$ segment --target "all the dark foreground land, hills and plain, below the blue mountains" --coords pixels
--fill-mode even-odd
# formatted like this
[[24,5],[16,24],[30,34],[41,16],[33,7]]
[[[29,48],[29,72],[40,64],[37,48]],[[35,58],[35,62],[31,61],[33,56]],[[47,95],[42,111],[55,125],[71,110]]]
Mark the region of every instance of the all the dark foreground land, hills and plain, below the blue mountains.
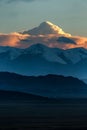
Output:
[[87,84],[73,77],[0,73],[0,130],[61,129],[87,129]]

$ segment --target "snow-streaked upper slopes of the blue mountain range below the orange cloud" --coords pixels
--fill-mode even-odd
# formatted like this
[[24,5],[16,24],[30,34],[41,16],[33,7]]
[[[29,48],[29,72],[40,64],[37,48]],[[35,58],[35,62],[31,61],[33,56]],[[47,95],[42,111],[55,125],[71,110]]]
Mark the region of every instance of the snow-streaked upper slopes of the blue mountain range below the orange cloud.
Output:
[[20,55],[40,55],[50,62],[58,62],[61,64],[76,64],[82,59],[87,58],[87,50],[84,48],[73,48],[62,50],[59,48],[50,48],[43,44],[35,44],[26,49],[18,49],[13,47],[0,47],[1,53],[8,53],[11,60]]

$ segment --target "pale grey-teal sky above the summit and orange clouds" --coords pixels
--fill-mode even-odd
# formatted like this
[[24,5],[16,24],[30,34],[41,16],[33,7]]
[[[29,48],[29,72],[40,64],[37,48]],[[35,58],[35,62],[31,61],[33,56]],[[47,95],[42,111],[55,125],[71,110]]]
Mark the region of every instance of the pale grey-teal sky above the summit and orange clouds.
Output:
[[43,21],[87,36],[87,0],[0,0],[0,33],[31,29]]

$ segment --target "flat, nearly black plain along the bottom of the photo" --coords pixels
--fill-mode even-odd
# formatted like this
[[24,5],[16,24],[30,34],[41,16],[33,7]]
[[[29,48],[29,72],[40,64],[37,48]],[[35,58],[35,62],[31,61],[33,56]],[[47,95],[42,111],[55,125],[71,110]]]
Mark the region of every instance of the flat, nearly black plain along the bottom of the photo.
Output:
[[87,129],[87,99],[3,101],[1,130]]

